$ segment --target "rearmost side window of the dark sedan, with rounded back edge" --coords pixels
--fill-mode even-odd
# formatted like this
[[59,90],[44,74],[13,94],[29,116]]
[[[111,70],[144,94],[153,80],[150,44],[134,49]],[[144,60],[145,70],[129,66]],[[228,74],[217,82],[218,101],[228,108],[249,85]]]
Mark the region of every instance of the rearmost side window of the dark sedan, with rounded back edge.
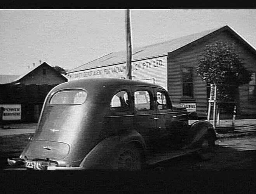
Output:
[[110,103],[110,108],[113,110],[127,110],[130,107],[129,95],[126,91],[117,92],[113,95]]

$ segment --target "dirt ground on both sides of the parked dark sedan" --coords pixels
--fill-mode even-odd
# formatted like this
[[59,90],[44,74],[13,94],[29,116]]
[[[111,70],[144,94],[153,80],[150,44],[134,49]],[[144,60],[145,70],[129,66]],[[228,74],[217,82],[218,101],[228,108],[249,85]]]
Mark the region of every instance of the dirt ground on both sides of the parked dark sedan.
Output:
[[[7,158],[17,158],[33,133],[0,137],[0,166],[7,165]],[[256,169],[256,133],[250,136],[216,140],[214,157],[209,161],[200,161],[195,154],[170,159],[149,169],[157,170],[238,170]]]

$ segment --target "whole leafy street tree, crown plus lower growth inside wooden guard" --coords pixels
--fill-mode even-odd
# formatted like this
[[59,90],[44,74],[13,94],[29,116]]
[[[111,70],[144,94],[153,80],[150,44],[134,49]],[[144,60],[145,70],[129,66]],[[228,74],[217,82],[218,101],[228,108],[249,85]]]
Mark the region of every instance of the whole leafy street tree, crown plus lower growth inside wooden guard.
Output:
[[[215,42],[206,45],[198,62],[197,73],[207,83],[217,85],[218,100],[235,100],[238,86],[249,83],[251,74],[246,70],[234,43]],[[218,103],[219,109],[230,111],[232,104]]]

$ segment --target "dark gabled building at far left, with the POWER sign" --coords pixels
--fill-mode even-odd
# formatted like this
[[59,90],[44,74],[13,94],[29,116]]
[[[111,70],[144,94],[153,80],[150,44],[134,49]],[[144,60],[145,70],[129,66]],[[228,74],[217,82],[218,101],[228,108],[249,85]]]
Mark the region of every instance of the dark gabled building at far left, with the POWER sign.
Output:
[[28,70],[21,76],[0,75],[0,107],[5,108],[5,123],[37,122],[47,93],[68,81],[47,62]]

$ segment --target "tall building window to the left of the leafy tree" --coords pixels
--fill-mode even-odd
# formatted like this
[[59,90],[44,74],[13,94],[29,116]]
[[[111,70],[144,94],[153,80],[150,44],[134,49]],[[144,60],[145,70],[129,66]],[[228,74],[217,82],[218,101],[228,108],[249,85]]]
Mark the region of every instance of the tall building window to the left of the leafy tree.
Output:
[[193,68],[182,67],[183,97],[193,98]]

